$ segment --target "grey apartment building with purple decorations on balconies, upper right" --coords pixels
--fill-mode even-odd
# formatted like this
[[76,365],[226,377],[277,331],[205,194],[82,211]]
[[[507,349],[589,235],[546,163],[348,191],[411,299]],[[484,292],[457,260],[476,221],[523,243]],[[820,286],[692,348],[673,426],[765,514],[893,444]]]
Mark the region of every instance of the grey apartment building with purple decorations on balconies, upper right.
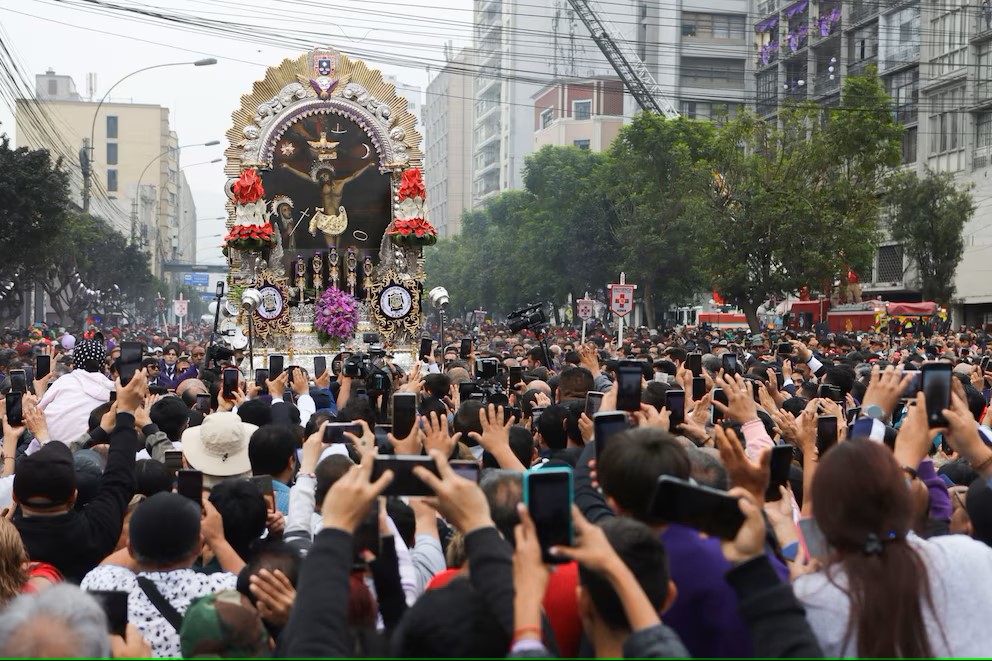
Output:
[[[905,127],[903,168],[929,168],[974,184],[977,210],[966,225],[955,276],[955,323],[992,323],[992,7],[962,0],[760,0],[752,12],[758,114],[786,99],[839,105],[844,76],[875,67]],[[923,38],[923,35],[926,35]],[[866,296],[919,298],[901,246],[883,241]]]

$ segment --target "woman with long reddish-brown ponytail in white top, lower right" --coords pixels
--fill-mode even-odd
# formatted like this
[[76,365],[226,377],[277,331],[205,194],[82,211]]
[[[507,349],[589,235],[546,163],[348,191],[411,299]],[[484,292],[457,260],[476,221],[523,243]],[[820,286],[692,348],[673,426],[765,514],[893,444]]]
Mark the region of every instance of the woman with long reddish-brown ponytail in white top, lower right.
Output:
[[992,549],[963,535],[917,537],[915,479],[867,439],[819,462],[812,496],[831,554],[795,591],[828,657],[992,653]]

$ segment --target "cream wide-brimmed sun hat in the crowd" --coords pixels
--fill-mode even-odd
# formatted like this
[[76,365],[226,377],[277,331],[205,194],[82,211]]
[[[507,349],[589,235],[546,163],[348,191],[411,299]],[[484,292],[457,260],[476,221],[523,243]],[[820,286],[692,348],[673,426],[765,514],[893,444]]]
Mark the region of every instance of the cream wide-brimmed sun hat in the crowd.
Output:
[[248,441],[256,429],[256,425],[242,422],[237,413],[208,415],[202,424],[183,432],[183,456],[191,467],[207,475],[250,473]]

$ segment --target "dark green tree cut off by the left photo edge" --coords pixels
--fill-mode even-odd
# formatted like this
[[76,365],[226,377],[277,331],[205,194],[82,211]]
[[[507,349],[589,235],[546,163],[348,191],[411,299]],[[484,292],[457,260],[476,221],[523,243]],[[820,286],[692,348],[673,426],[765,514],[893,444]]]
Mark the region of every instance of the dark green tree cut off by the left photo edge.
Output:
[[44,149],[11,149],[10,138],[0,135],[0,281],[39,275],[69,206],[61,162]]

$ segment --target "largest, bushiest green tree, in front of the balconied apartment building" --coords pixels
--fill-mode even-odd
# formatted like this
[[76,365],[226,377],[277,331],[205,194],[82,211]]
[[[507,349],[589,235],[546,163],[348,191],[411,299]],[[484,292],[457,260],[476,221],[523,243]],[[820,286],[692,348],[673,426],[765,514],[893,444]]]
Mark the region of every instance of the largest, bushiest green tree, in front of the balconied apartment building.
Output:
[[795,105],[768,121],[742,113],[720,127],[702,264],[752,330],[772,296],[829,289],[870,264],[901,131],[874,72],[848,78],[837,108]]

